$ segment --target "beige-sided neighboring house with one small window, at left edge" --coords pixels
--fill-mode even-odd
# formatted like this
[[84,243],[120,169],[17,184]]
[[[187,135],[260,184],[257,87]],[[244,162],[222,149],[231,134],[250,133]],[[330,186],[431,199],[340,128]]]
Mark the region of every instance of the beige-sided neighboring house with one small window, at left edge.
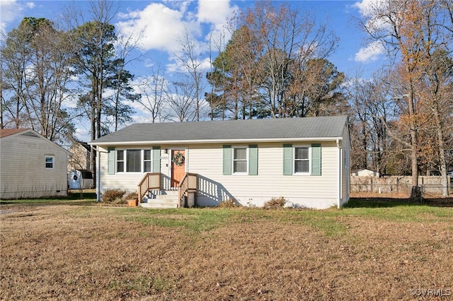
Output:
[[66,196],[69,155],[32,129],[0,129],[1,199]]

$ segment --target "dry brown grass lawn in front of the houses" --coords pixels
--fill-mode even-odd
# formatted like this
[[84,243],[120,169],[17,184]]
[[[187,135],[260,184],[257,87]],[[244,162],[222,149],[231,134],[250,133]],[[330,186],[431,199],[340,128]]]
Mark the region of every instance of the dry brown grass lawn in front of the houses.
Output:
[[[1,206],[0,300],[453,294],[453,209],[408,207],[408,216],[401,208],[375,210]],[[219,223],[201,230],[185,225],[202,215],[218,216]]]

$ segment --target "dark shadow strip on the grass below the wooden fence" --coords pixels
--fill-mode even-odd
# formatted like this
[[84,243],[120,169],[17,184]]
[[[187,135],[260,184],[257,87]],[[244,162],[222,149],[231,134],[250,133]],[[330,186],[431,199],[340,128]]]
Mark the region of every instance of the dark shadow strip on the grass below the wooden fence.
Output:
[[396,198],[350,198],[344,208],[385,208],[396,206],[453,207],[453,198],[432,198],[423,201]]

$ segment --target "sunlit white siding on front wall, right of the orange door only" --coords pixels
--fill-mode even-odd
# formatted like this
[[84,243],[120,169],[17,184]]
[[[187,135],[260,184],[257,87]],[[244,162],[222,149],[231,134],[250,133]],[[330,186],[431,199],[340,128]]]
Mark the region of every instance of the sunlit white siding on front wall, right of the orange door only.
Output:
[[[282,175],[281,143],[258,144],[259,172],[253,177],[223,175],[222,145],[205,149],[206,147],[206,145],[190,146],[188,172],[202,176],[199,180],[200,194],[197,199],[200,206],[214,205],[215,202],[232,197],[243,206],[262,206],[265,201],[279,196],[285,197],[291,203],[304,203],[303,206],[307,207],[326,208],[336,203],[338,148],[335,142],[322,144],[323,175],[320,177]],[[216,199],[217,192],[219,198]]]

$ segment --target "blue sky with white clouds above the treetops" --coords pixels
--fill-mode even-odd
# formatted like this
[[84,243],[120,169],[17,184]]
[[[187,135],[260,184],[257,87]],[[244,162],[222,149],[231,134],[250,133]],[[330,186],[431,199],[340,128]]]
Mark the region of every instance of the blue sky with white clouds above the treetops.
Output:
[[[367,43],[367,36],[357,25],[367,5],[379,0],[356,1],[292,1],[314,13],[316,20],[327,21],[329,28],[340,38],[336,52],[328,59],[347,76],[360,73],[369,77],[384,64],[382,49]],[[175,59],[178,39],[187,28],[200,48],[206,47],[207,36],[226,34],[224,25],[235,10],[253,6],[253,1],[228,0],[164,0],[164,1],[118,1],[119,10],[112,23],[127,33],[137,35],[141,44],[140,58],[128,68],[137,82],[152,73],[156,66],[166,69],[171,76],[179,66]],[[15,1],[0,0],[0,30],[8,33],[24,17],[48,18],[57,21],[67,7],[74,5],[89,16],[88,1]],[[89,18],[89,17],[88,17]],[[138,53],[136,53],[138,54]],[[215,54],[214,54],[215,56]],[[137,108],[138,109],[138,108]],[[147,122],[139,114],[135,122]],[[79,129],[84,136],[87,129]]]

